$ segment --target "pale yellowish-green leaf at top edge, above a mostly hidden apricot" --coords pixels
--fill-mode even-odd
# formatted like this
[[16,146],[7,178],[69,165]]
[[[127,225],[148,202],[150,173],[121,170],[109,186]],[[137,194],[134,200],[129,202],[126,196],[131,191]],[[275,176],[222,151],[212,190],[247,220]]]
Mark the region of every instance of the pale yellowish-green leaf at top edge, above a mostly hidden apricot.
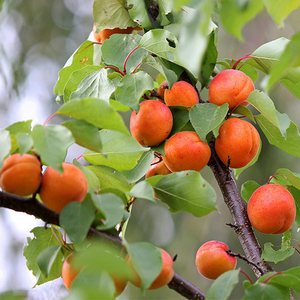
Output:
[[98,31],[106,28],[126,28],[137,25],[131,19],[123,1],[119,0],[95,0],[92,6],[92,14]]

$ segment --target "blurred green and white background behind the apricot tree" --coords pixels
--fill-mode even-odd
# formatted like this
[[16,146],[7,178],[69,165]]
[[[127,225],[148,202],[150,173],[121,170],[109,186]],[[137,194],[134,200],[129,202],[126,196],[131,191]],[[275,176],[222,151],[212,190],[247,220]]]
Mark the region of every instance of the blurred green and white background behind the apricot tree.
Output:
[[[53,87],[58,71],[91,31],[92,2],[93,0],[4,1],[0,12],[0,128],[27,119],[32,119],[32,124],[43,123],[47,116],[57,110]],[[244,27],[244,43],[231,37],[220,27],[218,58],[238,59],[267,41],[280,36],[290,37],[300,30],[299,15],[299,9],[292,12],[284,21],[284,27],[277,28],[267,12],[261,12]],[[260,89],[259,83],[255,87]],[[201,97],[207,99],[205,90],[201,92]],[[281,85],[271,90],[270,97],[277,110],[287,113],[299,127],[300,101]],[[260,130],[259,132],[261,133]],[[300,172],[299,159],[269,145],[262,134],[261,138],[262,151],[259,159],[239,176],[238,187],[250,179],[263,184],[280,167]],[[71,147],[67,160],[71,161],[81,152],[82,149]],[[243,252],[233,229],[225,225],[232,219],[212,172],[205,167],[201,174],[216,189],[219,212],[196,218],[185,212],[170,213],[166,205],[159,201],[154,205],[137,199],[132,208],[126,238],[129,242],[151,241],[165,248],[171,256],[177,254],[174,270],[205,292],[212,281],[197,273],[194,257],[198,247],[207,240],[216,239],[227,243],[233,252]],[[25,213],[0,208],[0,292],[18,289],[28,292],[28,299],[49,300],[61,299],[68,294],[61,278],[31,289],[35,279],[26,268],[22,248],[26,237],[30,236],[29,231],[42,225],[40,220]],[[293,237],[298,239],[298,235],[297,228],[293,227]],[[261,245],[266,241],[276,245],[281,243],[281,235],[267,236],[257,232],[257,237]],[[277,263],[276,270],[298,265],[297,255],[295,253],[284,262]],[[237,266],[255,279],[246,262],[238,261]],[[240,282],[244,279],[241,274]],[[240,299],[241,290],[236,286],[231,299]],[[139,289],[129,284],[119,299],[182,297],[168,287],[141,295]]]

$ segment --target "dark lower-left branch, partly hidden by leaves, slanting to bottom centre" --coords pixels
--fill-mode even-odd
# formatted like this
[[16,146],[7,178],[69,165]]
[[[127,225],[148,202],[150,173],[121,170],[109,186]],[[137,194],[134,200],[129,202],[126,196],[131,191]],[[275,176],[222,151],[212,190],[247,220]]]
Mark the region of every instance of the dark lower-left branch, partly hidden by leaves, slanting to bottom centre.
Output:
[[[34,215],[46,223],[59,226],[59,213],[47,208],[36,198],[24,198],[0,191],[0,207],[10,208],[15,211],[25,212]],[[110,242],[116,247],[122,247],[122,240],[119,236],[89,227],[88,237],[97,237]],[[172,280],[168,283],[169,288],[174,289],[180,295],[190,300],[203,300],[204,293],[193,284],[174,273]]]

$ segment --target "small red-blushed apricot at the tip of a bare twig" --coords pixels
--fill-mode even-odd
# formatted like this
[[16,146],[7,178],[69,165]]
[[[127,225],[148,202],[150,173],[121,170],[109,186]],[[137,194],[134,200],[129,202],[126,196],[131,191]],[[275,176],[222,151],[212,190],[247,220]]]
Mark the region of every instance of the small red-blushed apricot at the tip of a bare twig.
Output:
[[203,243],[196,253],[196,267],[198,272],[208,279],[216,279],[222,273],[233,270],[236,257],[229,255],[228,246],[217,240]]

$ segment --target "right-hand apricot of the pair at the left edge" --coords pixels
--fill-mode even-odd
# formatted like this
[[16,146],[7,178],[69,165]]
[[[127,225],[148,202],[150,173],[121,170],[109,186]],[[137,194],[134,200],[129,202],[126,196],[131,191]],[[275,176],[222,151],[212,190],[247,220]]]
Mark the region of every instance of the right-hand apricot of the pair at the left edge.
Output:
[[71,201],[82,202],[87,193],[84,173],[74,164],[63,162],[60,173],[48,166],[43,173],[39,196],[50,209],[60,212]]

